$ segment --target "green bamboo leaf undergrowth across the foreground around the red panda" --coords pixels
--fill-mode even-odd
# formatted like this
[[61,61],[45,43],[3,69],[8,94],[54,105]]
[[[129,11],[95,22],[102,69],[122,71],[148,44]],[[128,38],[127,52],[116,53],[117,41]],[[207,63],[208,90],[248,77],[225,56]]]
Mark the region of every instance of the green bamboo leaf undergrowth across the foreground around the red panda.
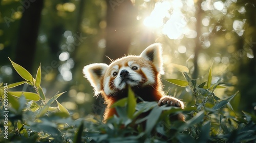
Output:
[[[156,102],[136,103],[130,90],[127,98],[113,105],[118,116],[106,123],[93,115],[73,120],[69,111],[57,98],[57,93],[46,101],[42,90],[40,66],[36,77],[22,66],[12,62],[25,81],[0,84],[1,142],[255,142],[256,116],[234,113],[229,103],[237,93],[220,99],[217,88],[224,88],[219,79],[211,84],[211,68],[207,81],[197,84],[184,66],[174,66],[185,80],[166,81],[186,87],[195,97],[195,104],[184,110],[176,107],[159,107]],[[34,92],[11,91],[11,88],[28,84]],[[55,103],[56,107],[52,107]],[[141,114],[147,112],[147,116]],[[186,122],[170,121],[169,116],[183,113]],[[143,116],[143,117],[141,117]]]

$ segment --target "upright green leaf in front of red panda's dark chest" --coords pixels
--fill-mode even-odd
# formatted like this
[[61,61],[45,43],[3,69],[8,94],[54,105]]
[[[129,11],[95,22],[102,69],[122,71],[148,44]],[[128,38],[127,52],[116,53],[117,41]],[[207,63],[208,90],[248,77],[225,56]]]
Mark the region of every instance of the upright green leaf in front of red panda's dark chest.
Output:
[[133,114],[135,112],[136,98],[135,98],[134,92],[130,86],[128,88],[127,106],[128,106],[128,108],[127,108],[128,117],[132,118]]

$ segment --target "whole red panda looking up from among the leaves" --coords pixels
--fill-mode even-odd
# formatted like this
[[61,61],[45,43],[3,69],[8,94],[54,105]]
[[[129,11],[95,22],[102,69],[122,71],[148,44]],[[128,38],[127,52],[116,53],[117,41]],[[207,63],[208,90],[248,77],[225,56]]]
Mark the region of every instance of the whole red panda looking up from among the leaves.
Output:
[[[110,107],[127,97],[128,85],[143,101],[184,108],[182,101],[166,96],[162,89],[160,74],[164,74],[164,71],[160,43],[146,47],[140,56],[125,56],[110,65],[93,63],[84,66],[83,74],[94,87],[95,96],[99,93],[103,96],[106,104],[103,121],[116,114],[115,108]],[[184,121],[183,114],[178,114],[177,118]]]

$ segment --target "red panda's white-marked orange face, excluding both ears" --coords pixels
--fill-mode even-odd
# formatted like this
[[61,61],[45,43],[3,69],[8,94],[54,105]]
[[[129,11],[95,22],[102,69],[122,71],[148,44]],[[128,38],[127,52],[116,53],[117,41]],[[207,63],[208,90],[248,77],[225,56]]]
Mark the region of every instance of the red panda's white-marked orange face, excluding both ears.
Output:
[[127,87],[153,85],[157,70],[154,65],[139,56],[127,56],[111,63],[103,77],[103,91],[106,95]]

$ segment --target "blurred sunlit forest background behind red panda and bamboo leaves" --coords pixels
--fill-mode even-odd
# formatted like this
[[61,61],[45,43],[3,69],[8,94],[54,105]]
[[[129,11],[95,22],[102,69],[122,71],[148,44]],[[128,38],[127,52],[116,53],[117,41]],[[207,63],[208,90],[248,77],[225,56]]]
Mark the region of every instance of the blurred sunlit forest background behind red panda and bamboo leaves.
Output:
[[[180,78],[169,63],[185,65],[194,79],[212,73],[230,83],[216,96],[240,91],[235,110],[256,108],[256,2],[245,0],[3,0],[0,2],[0,83],[17,82],[8,57],[36,74],[41,64],[46,96],[68,91],[62,105],[78,118],[102,111],[83,78],[90,63],[110,63],[163,44],[165,76]],[[218,78],[213,78],[216,82]],[[164,83],[166,84],[166,83]],[[31,90],[27,86],[21,87]],[[189,104],[186,91],[166,84]]]

